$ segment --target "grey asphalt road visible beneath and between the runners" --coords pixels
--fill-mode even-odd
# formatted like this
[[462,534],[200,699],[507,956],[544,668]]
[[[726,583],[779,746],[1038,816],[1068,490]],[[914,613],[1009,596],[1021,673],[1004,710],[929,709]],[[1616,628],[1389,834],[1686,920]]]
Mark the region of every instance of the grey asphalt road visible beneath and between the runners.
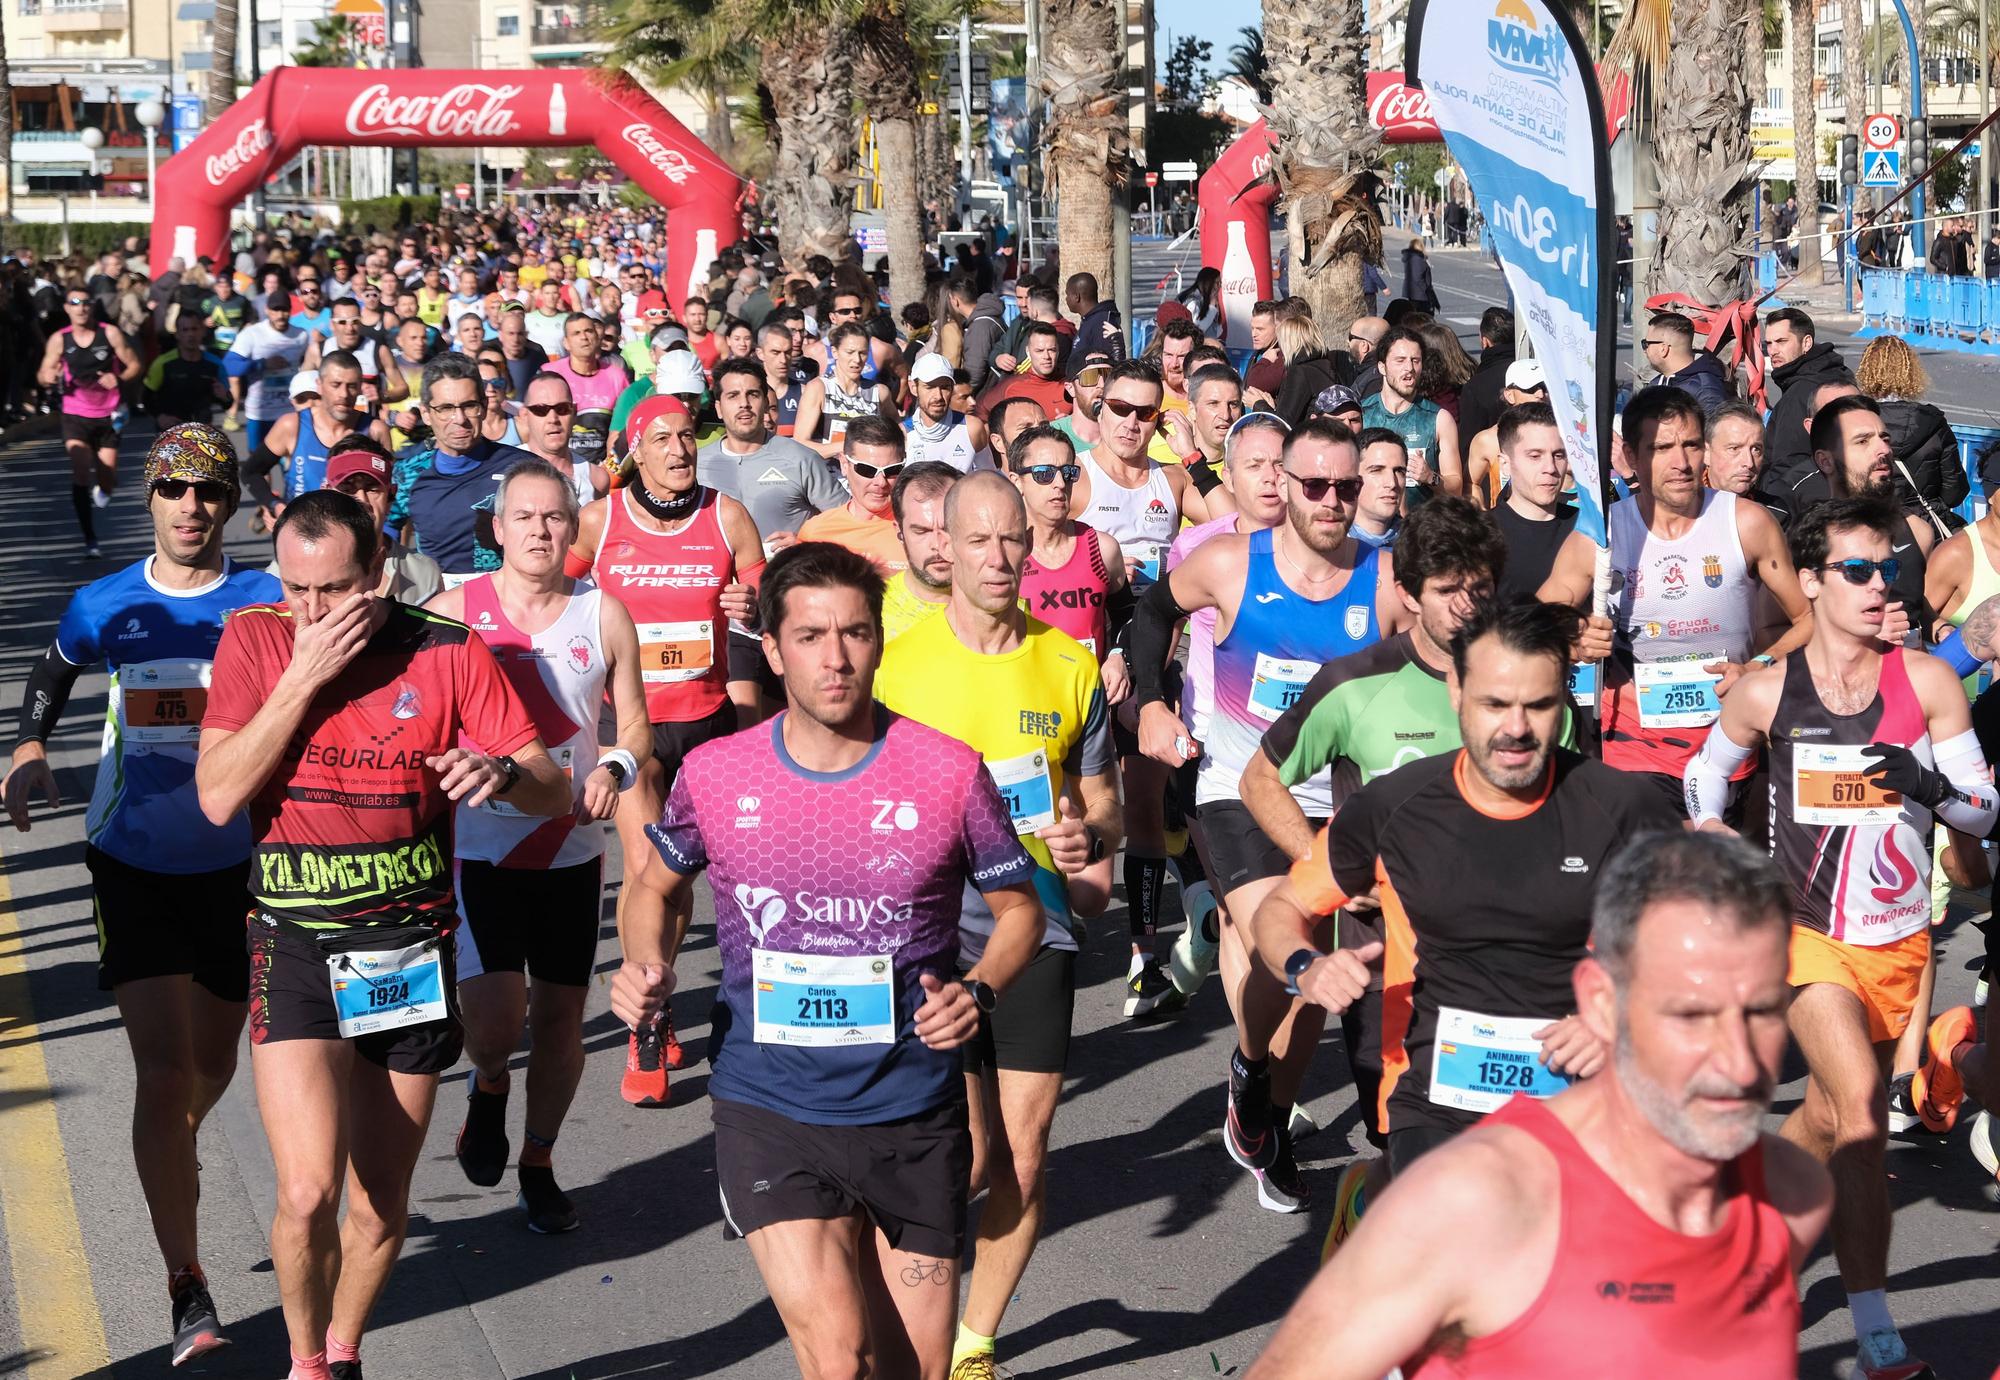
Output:
[[[1480,288],[1446,286],[1448,312],[1476,316],[1468,304]],[[126,468],[136,480],[136,446]],[[100,518],[106,560],[86,564],[66,482],[50,442],[0,448],[0,512],[18,534],[0,552],[8,712],[70,590],[150,548],[128,488]],[[240,534],[232,548],[264,560],[266,544]],[[96,990],[82,868],[102,710],[104,680],[92,674],[52,744],[64,808],[38,814],[28,836],[0,838],[0,1376],[154,1376],[166,1366],[164,1276],[128,1152],[132,1070],[116,1010]],[[668,1108],[620,1102],[624,1034],[604,994],[592,994],[588,1070],[556,1154],[582,1230],[534,1236],[510,1186],[464,1180],[450,1154],[462,1082],[446,1084],[416,1170],[410,1240],[368,1334],[372,1380],[794,1374],[748,1250],[720,1236],[698,1062],[718,962],[706,882],[698,892],[678,1002],[692,1062]],[[1970,998],[1980,950],[1960,916],[1942,936],[1940,994],[1950,1002]],[[1218,1144],[1230,1046],[1222,996],[1210,984],[1178,1018],[1122,1022],[1122,928],[1118,912],[1096,922],[1078,968],[1048,1236],[1006,1318],[1000,1356],[1018,1376],[1050,1380],[1240,1374],[1312,1272],[1324,1198],[1360,1144],[1354,1098],[1334,1086],[1340,1052],[1324,1050],[1308,1092],[1328,1132],[1302,1146],[1322,1202],[1292,1218],[1258,1210],[1252,1184]],[[606,898],[600,972],[614,956]],[[1780,1110],[1796,1098],[1798,1084],[1786,1084]],[[272,1164],[248,1058],[202,1130],[200,1158],[202,1256],[236,1346],[190,1370],[268,1380],[284,1370],[286,1346],[266,1254]],[[1982,1196],[1964,1132],[1896,1148],[1890,1164],[1892,1290],[1904,1334],[1946,1380],[1986,1376],[2000,1358],[2000,1212]],[[1804,1276],[1804,1316],[1802,1374],[1846,1374],[1852,1334],[1824,1250]]]

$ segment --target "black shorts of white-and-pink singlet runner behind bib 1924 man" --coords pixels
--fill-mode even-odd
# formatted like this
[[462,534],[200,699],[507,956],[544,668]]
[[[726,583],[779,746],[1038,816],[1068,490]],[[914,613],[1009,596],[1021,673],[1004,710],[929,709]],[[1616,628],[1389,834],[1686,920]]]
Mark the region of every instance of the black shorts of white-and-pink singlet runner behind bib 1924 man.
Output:
[[604,860],[568,868],[458,862],[458,980],[526,972],[536,982],[590,986],[598,962]]

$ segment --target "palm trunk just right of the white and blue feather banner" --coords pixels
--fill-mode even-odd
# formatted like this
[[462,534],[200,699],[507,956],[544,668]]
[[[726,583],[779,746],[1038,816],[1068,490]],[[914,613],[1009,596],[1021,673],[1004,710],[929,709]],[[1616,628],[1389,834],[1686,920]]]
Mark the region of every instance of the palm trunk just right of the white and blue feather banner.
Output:
[[1750,22],[1742,0],[1674,0],[1674,42],[1660,76],[1660,110],[1674,118],[1654,132],[1660,238],[1652,292],[1720,306],[1748,286],[1752,100],[1742,28]]

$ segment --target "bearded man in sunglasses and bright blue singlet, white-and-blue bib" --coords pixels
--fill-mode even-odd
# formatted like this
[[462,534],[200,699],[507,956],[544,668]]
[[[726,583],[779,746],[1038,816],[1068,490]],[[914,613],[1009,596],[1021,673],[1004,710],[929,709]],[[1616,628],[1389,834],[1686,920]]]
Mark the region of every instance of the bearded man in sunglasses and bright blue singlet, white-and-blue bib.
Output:
[[[1202,762],[1194,798],[1228,914],[1220,960],[1238,1032],[1224,1146],[1256,1176],[1260,1204],[1300,1212],[1310,1194],[1292,1158],[1290,1118],[1324,1012],[1288,1006],[1282,986],[1252,964],[1238,928],[1294,860],[1244,808],[1242,770],[1324,662],[1400,632],[1414,614],[1396,598],[1390,554],[1350,532],[1362,494],[1354,432],[1302,422],[1286,438],[1284,476],[1284,524],[1204,542],[1140,600],[1130,644],[1140,748],[1172,768]],[[1216,610],[1206,742],[1188,738],[1162,690],[1172,630],[1200,608]],[[1302,780],[1292,798],[1308,820],[1330,818],[1330,772]]]

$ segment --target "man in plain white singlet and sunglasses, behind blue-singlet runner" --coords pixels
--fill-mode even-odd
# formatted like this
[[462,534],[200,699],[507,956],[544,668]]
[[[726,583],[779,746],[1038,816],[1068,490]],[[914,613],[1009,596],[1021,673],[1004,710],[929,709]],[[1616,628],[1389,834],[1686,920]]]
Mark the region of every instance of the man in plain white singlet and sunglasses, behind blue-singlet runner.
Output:
[[[1186,466],[1166,466],[1148,454],[1158,436],[1164,396],[1166,384],[1152,364],[1114,364],[1096,416],[1098,442],[1078,454],[1082,476],[1070,490],[1070,516],[1118,544],[1134,594],[1144,594],[1160,578],[1166,548],[1180,532],[1182,504],[1194,492]],[[1166,666],[1166,650],[1152,668],[1156,676]],[[1138,1018],[1178,1002],[1154,952],[1166,892],[1168,768],[1140,750],[1138,736],[1122,720],[1112,720],[1112,732],[1126,782],[1124,886],[1132,960],[1126,968],[1124,1014]],[[1182,902],[1186,904],[1186,896]]]

